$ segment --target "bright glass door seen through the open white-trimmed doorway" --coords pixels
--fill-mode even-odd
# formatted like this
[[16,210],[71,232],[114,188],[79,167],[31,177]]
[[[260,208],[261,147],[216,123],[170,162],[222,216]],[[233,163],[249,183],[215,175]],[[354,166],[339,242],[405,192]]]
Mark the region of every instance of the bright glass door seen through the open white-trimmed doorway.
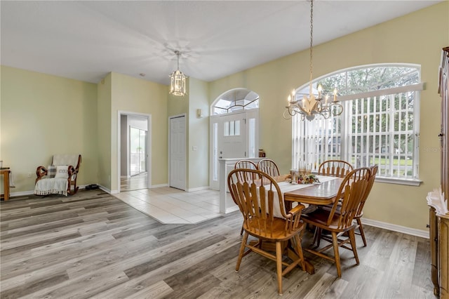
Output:
[[138,175],[147,171],[145,146],[147,131],[130,127],[130,175]]

